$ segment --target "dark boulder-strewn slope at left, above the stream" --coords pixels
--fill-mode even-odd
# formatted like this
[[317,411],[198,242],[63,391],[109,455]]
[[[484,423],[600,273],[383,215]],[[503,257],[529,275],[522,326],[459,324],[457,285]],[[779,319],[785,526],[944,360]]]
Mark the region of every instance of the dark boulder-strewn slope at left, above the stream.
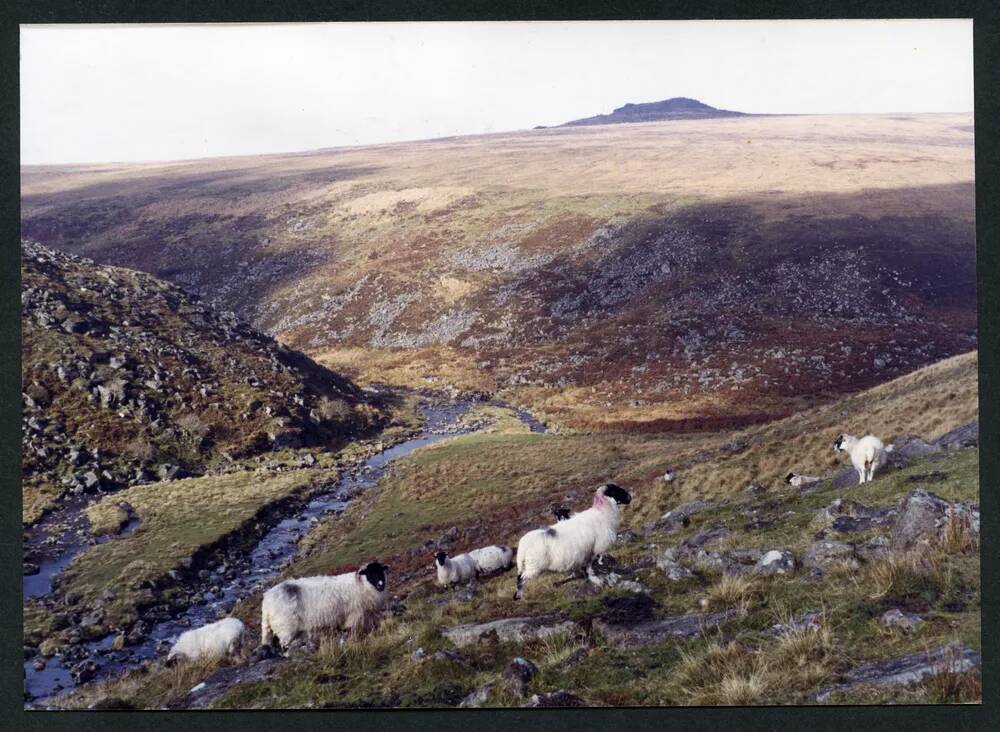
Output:
[[24,520],[63,492],[332,447],[379,417],[357,386],[154,277],[22,244]]

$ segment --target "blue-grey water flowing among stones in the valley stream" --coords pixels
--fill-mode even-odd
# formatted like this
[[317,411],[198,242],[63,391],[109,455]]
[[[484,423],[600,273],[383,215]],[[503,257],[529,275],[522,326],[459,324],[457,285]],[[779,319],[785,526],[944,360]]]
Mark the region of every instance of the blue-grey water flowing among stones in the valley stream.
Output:
[[[493,403],[499,404],[499,402]],[[342,473],[339,480],[328,490],[321,491],[294,516],[285,518],[272,527],[243,558],[235,579],[227,580],[217,573],[210,576],[203,583],[203,588],[207,591],[208,587],[219,585],[218,593],[212,593],[211,599],[206,598],[200,603],[191,605],[179,616],[156,624],[141,643],[116,651],[112,646],[115,635],[111,634],[85,644],[81,657],[92,658],[97,662],[99,669],[95,678],[114,676],[140,666],[143,661],[157,658],[159,655],[157,647],[161,643],[172,643],[185,630],[225,617],[237,601],[270,586],[275,577],[295,557],[301,538],[323,516],[343,511],[350,496],[378,483],[393,461],[426,445],[470,432],[468,428],[459,428],[457,422],[472,405],[471,401],[460,401],[423,406],[421,412],[424,422],[420,436],[368,458],[357,469]],[[519,410],[518,416],[532,432],[545,431],[544,425],[527,411]],[[80,516],[85,503],[86,501],[81,499],[80,505],[73,506]],[[119,536],[134,531],[138,523],[137,519],[130,521]],[[53,525],[54,522],[50,522],[48,526],[40,527],[39,531],[47,532]],[[85,519],[82,526],[85,528]],[[41,536],[42,534],[34,535],[35,541],[43,541]],[[39,597],[51,592],[52,579],[92,541],[94,540],[61,542],[62,553],[50,552],[48,558],[39,563],[41,567],[39,573],[24,578],[25,598]],[[49,659],[41,671],[35,669],[34,661],[35,659],[31,659],[24,663],[25,695],[28,699],[48,696],[74,686],[73,678],[60,658]]]

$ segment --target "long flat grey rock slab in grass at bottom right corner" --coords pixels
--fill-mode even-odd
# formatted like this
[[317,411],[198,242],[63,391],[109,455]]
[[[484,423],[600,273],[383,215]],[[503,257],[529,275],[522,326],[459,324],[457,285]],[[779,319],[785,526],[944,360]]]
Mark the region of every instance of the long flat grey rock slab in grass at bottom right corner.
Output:
[[981,666],[982,658],[976,651],[955,641],[931,651],[858,666],[844,674],[844,683],[820,689],[812,698],[826,701],[831,694],[858,684],[909,686],[941,673],[965,673]]

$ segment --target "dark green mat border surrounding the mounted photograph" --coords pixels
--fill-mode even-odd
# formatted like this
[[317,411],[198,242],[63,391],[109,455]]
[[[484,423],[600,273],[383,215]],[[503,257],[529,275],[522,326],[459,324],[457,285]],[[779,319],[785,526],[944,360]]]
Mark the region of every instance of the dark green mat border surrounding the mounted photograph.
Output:
[[[628,727],[693,729],[985,729],[997,724],[997,655],[1000,617],[997,585],[997,483],[1000,430],[997,407],[1000,310],[998,246],[998,97],[1000,25],[997,2],[316,2],[277,0],[4,0],[0,3],[0,729],[340,730],[386,727],[413,730],[538,728],[601,730]],[[982,706],[789,707],[720,709],[589,709],[317,712],[25,712],[21,672],[20,533],[20,324],[18,174],[18,23],[237,22],[317,20],[555,20],[685,18],[931,18],[975,19],[976,211],[979,279],[980,440],[983,509]],[[845,48],[845,53],[850,49]],[[818,80],[822,83],[822,80]],[[791,671],[790,671],[791,672]],[[988,720],[993,718],[992,724]]]

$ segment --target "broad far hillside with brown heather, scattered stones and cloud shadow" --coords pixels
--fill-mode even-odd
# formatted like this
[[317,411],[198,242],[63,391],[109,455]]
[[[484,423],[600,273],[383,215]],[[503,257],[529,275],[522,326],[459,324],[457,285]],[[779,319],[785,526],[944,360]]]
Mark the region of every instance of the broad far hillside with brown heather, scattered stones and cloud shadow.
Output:
[[27,235],[361,382],[731,428],[975,343],[969,115],[745,117],[25,168]]

